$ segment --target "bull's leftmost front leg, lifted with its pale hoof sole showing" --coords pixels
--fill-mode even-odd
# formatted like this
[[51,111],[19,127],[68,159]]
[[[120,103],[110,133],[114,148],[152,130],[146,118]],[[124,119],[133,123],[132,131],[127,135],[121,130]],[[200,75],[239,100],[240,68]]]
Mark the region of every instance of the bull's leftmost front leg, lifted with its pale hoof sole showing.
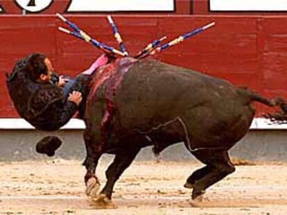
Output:
[[96,139],[93,138],[93,134],[89,131],[85,131],[84,133],[85,147],[87,151],[87,156],[83,165],[86,167],[85,174],[85,185],[86,185],[86,194],[87,196],[91,196],[92,198],[97,196],[98,189],[100,188],[100,182],[96,177],[96,167],[98,165],[98,160],[101,158],[103,151],[100,149],[95,149],[94,146]]

